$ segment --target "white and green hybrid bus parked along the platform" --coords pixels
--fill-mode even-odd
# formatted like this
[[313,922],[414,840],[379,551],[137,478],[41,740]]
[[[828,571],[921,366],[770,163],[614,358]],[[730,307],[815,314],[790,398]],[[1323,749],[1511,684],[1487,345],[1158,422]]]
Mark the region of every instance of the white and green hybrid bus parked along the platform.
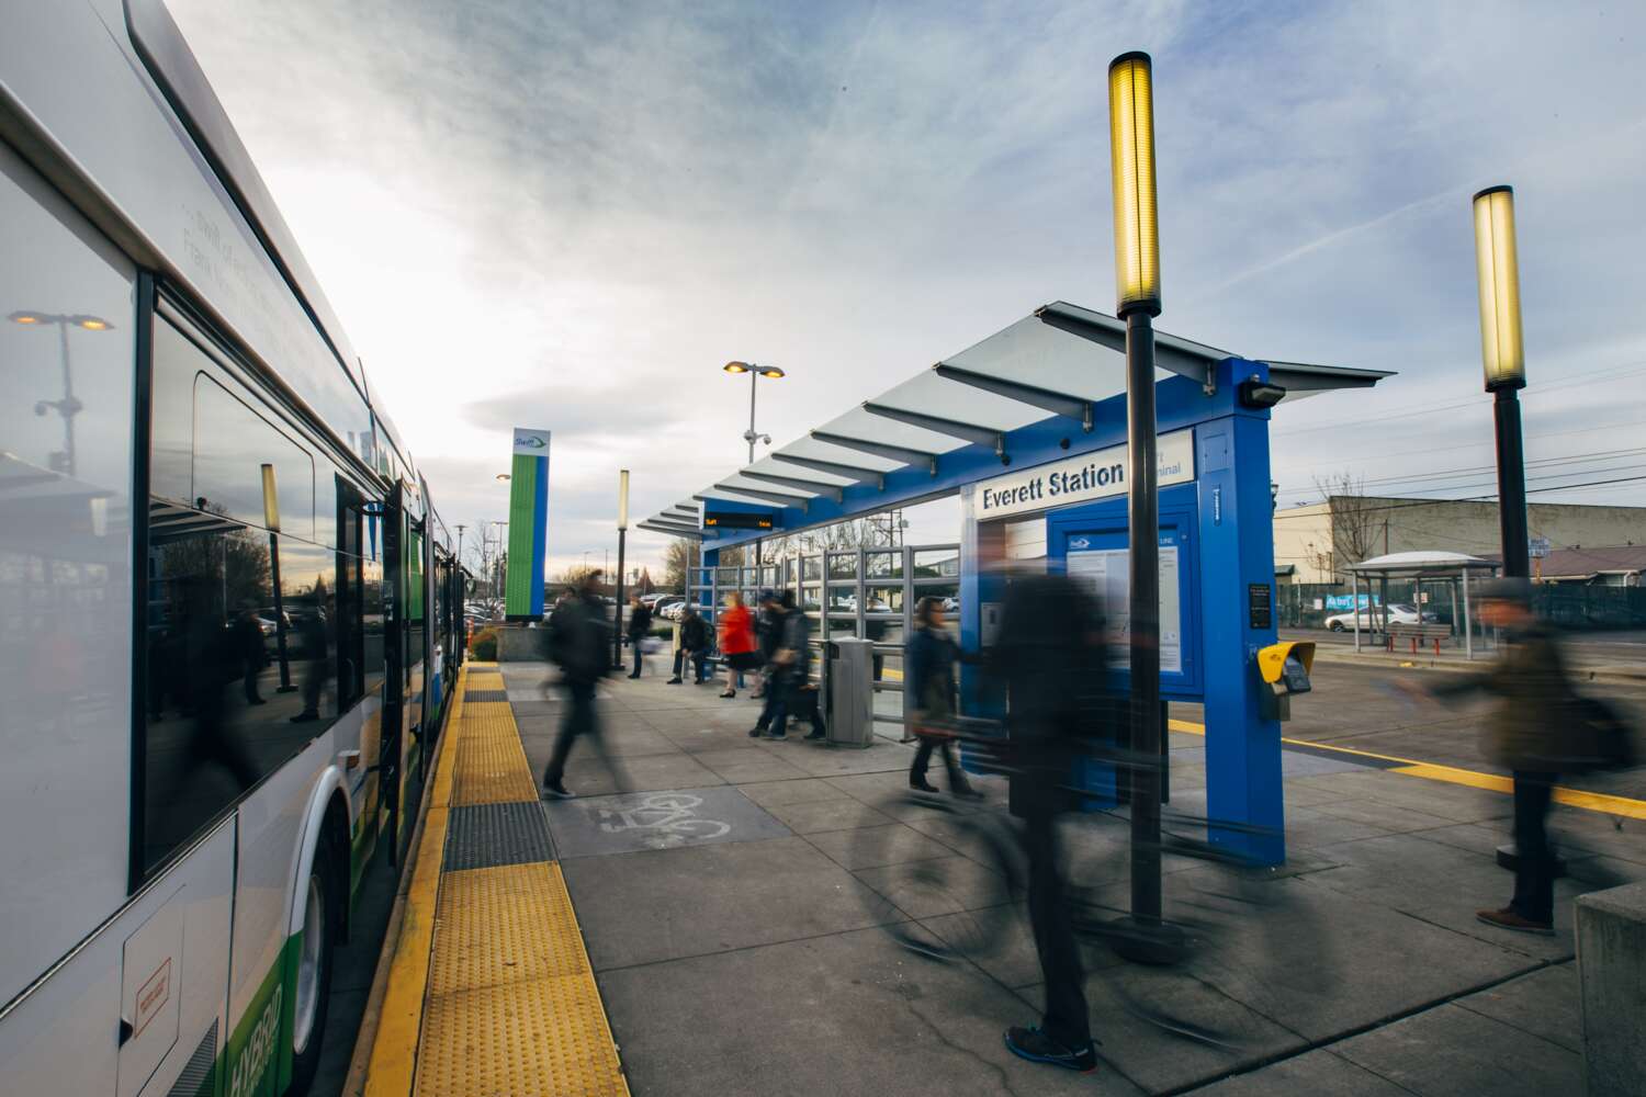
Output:
[[160,0],[0,15],[0,1090],[301,1092],[458,567]]

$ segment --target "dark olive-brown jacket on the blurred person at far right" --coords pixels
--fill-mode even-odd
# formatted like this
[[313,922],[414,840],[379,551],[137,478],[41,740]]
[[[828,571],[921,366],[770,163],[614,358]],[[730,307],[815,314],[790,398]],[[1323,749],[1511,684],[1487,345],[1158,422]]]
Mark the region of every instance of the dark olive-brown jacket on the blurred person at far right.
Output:
[[1539,773],[1574,768],[1565,760],[1574,743],[1565,738],[1577,717],[1577,694],[1546,623],[1504,633],[1503,653],[1490,671],[1442,681],[1430,692],[1442,699],[1488,692],[1496,699],[1481,745],[1498,765]]

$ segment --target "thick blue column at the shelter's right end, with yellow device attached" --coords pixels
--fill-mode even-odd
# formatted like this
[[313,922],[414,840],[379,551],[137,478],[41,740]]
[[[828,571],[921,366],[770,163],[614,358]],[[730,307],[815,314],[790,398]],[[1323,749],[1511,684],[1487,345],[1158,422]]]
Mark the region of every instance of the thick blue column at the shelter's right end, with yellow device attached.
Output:
[[1213,829],[1211,840],[1262,865],[1286,862],[1281,722],[1259,711],[1258,650],[1274,643],[1274,511],[1269,411],[1231,400],[1261,362],[1218,363],[1228,414],[1195,428],[1200,465],[1200,569],[1205,635],[1207,814],[1258,831]]

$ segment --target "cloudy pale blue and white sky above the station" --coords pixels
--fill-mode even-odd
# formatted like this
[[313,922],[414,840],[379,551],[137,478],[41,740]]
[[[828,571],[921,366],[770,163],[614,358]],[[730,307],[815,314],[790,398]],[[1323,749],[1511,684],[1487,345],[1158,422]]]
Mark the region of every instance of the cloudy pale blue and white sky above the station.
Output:
[[509,428],[555,431],[555,571],[612,546],[621,465],[645,515],[742,464],[728,359],[788,372],[782,444],[1039,304],[1113,311],[1126,49],[1155,61],[1159,327],[1399,372],[1279,410],[1282,507],[1345,472],[1491,492],[1470,194],[1496,183],[1532,498],[1646,502],[1638,5],[170,7],[448,521],[504,518]]

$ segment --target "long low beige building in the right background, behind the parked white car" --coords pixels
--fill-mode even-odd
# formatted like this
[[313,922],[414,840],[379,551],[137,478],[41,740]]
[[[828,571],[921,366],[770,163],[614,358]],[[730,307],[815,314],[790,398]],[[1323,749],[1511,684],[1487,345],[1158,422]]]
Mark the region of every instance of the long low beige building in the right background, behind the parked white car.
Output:
[[[1546,579],[1638,586],[1646,558],[1646,507],[1531,503],[1527,526],[1549,556],[1534,559]],[[1384,556],[1440,549],[1501,556],[1498,505],[1383,495],[1332,495],[1274,515],[1279,584],[1348,584],[1345,567]],[[1582,549],[1580,554],[1574,554]]]

